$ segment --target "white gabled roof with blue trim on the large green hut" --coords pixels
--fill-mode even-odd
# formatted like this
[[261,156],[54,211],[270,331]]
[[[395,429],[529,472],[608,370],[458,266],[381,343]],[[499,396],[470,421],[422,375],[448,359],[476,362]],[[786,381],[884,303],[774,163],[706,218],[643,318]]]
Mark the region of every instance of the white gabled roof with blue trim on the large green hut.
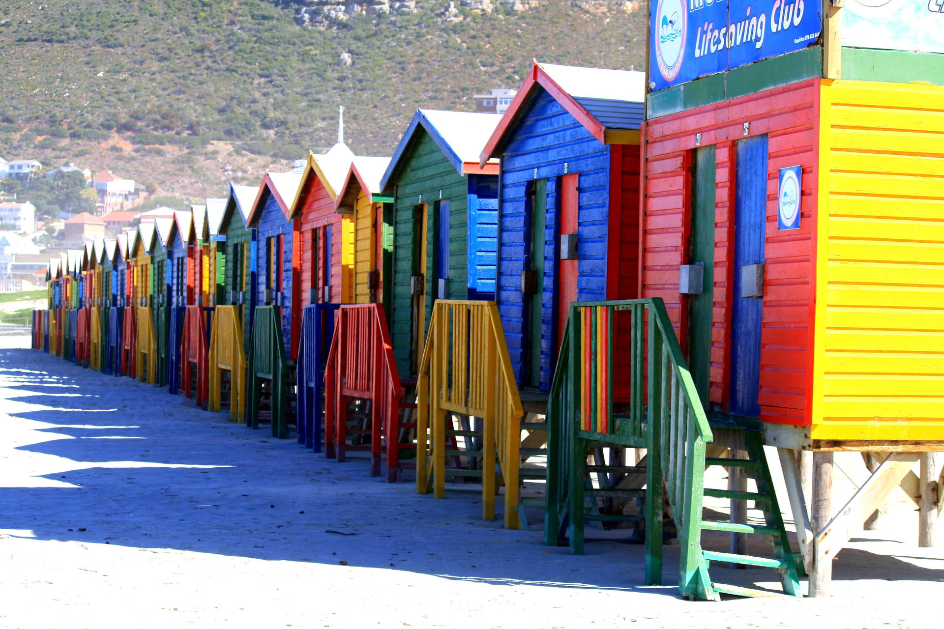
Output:
[[498,160],[489,159],[484,166],[479,156],[485,140],[495,131],[501,116],[495,113],[470,113],[468,111],[440,111],[416,109],[413,120],[396,146],[394,157],[381,178],[386,190],[402,166],[402,160],[410,148],[416,133],[424,130],[449,160],[459,174],[498,174]]

